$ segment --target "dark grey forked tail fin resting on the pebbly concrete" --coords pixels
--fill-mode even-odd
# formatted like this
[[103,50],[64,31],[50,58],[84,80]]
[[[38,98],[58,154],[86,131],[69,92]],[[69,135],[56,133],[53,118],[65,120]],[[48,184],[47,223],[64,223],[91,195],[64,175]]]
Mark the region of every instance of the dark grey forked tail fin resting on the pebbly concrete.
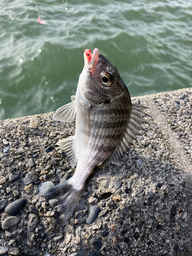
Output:
[[84,188],[81,190],[75,189],[69,184],[70,179],[39,193],[39,196],[47,199],[58,199],[59,211],[61,212],[60,218],[63,223],[70,219],[84,190]]

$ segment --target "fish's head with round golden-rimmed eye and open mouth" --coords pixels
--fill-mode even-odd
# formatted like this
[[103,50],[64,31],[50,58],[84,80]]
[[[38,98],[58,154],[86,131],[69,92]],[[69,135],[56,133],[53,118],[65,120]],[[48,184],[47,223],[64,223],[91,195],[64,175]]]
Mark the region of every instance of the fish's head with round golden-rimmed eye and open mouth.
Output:
[[81,90],[91,104],[109,103],[127,90],[115,65],[95,48],[84,51],[85,81]]

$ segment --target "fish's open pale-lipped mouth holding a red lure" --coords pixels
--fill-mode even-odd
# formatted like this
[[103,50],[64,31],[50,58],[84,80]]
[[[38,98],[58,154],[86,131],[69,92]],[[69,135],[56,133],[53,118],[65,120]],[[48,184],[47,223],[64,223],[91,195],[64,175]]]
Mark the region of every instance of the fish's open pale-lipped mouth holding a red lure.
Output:
[[87,49],[84,51],[83,56],[84,66],[86,66],[87,70],[90,71],[91,74],[93,74],[99,58],[99,50],[95,48],[92,54],[91,50]]

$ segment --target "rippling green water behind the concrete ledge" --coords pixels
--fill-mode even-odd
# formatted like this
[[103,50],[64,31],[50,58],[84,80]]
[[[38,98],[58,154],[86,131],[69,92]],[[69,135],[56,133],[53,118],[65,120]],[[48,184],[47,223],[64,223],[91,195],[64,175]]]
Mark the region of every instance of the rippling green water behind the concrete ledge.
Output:
[[[37,22],[37,10],[49,26]],[[70,102],[83,47],[115,63],[131,96],[192,86],[191,1],[68,0],[68,11],[37,10],[30,1],[1,1],[0,119]]]

